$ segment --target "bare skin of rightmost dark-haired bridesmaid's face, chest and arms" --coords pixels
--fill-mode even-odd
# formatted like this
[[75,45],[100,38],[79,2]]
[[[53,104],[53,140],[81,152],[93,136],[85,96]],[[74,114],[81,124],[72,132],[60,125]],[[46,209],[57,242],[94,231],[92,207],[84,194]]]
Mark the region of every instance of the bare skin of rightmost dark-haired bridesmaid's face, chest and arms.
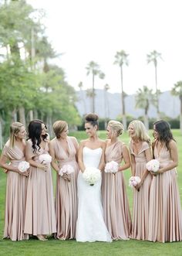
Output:
[[[157,152],[160,154],[161,149],[164,146],[164,143],[160,140],[160,135],[156,130],[155,125],[153,126],[153,137],[157,140],[156,145],[157,145]],[[175,167],[178,166],[178,152],[177,152],[177,143],[174,142],[174,140],[170,140],[169,143],[169,148],[170,148],[170,157],[173,162],[170,162],[167,166],[160,168],[157,172],[151,172],[154,176],[157,176],[159,174],[162,174],[163,172],[167,172],[171,169],[174,169]]]

